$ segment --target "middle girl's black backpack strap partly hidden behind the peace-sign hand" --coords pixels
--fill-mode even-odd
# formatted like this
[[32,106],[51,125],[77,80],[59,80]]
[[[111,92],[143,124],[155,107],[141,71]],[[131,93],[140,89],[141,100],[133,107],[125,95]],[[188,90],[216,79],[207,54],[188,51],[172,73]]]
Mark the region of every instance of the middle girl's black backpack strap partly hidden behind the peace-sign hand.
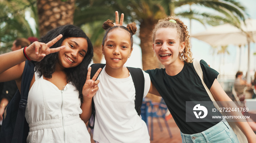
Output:
[[[91,79],[93,78],[94,74],[98,71],[99,68],[102,68],[105,66],[105,64],[92,64],[91,65]],[[99,73],[100,74],[100,73]],[[97,80],[97,79],[96,79]],[[95,122],[95,106],[94,101],[92,101],[92,110],[91,110],[91,117],[89,119],[89,128],[94,128],[94,122]]]

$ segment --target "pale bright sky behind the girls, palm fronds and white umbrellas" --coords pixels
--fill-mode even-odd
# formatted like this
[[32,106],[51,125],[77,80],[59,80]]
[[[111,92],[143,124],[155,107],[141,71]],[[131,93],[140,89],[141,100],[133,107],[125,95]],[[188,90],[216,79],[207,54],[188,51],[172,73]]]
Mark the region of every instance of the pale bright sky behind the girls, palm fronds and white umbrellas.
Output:
[[[256,19],[256,0],[238,0],[241,4],[243,4],[247,8],[247,13],[249,14],[251,19]],[[181,19],[187,26],[188,30],[190,31],[189,27],[189,21],[187,19]],[[256,25],[255,25],[256,26]],[[207,26],[206,28],[198,23],[197,21],[192,21],[192,33],[196,34],[199,32],[203,32],[206,29],[211,28],[211,26]],[[135,40],[137,38],[134,38]],[[134,42],[135,45],[133,46],[133,51],[131,57],[128,59],[126,66],[131,67],[139,67],[142,68],[142,61],[141,59],[141,51],[140,47],[138,46],[139,41]],[[192,45],[192,53],[193,58],[195,59],[203,59],[205,60],[212,68],[214,68],[216,71],[220,73],[220,76],[218,78],[223,79],[234,79],[235,74],[238,71],[238,62],[239,62],[239,55],[241,53],[241,67],[240,70],[244,72],[244,75],[247,71],[247,65],[248,65],[248,46],[245,45],[241,48],[241,51],[237,46],[229,45],[228,51],[230,54],[225,55],[217,55],[216,53],[213,55],[212,47],[205,43],[204,41],[197,40],[196,38],[191,38],[191,45]],[[254,75],[254,72],[256,70],[256,56],[253,56],[252,53],[256,52],[255,44],[250,44],[250,53],[251,53],[251,70],[250,75]],[[222,58],[223,57],[223,58]],[[221,60],[222,59],[222,60]],[[102,60],[104,63],[104,60]]]

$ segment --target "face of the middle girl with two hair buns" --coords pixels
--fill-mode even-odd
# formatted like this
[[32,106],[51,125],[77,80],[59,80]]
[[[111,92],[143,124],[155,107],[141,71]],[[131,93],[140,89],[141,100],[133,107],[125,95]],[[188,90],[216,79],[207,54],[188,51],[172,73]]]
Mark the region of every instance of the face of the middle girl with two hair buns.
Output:
[[114,29],[102,45],[102,52],[106,60],[106,68],[123,68],[123,65],[131,56],[131,37],[127,31]]

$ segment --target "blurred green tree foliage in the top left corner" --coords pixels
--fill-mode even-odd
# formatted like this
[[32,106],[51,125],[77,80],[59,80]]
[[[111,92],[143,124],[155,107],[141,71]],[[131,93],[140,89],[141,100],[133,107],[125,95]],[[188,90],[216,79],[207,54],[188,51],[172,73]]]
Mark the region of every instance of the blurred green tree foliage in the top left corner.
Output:
[[27,0],[0,1],[0,53],[11,51],[17,37],[36,36],[25,19],[25,11],[33,5],[35,2]]

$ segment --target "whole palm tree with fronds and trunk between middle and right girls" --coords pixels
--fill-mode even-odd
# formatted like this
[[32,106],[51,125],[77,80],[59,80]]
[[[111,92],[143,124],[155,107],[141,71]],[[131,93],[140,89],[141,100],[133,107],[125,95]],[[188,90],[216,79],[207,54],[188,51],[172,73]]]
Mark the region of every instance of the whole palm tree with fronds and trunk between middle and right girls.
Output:
[[[244,20],[246,16],[245,8],[236,0],[91,0],[87,3],[77,0],[77,3],[81,8],[78,14],[79,23],[88,22],[81,17],[90,17],[93,20],[101,20],[103,17],[103,22],[110,17],[106,15],[116,10],[125,13],[125,21],[136,21],[140,27],[139,38],[144,70],[160,66],[151,49],[153,41],[150,38],[153,26],[159,19],[167,15],[176,15],[197,20],[203,25],[231,23],[239,27],[240,20]],[[176,9],[180,10],[175,11]],[[95,10],[97,12],[93,15]]]

